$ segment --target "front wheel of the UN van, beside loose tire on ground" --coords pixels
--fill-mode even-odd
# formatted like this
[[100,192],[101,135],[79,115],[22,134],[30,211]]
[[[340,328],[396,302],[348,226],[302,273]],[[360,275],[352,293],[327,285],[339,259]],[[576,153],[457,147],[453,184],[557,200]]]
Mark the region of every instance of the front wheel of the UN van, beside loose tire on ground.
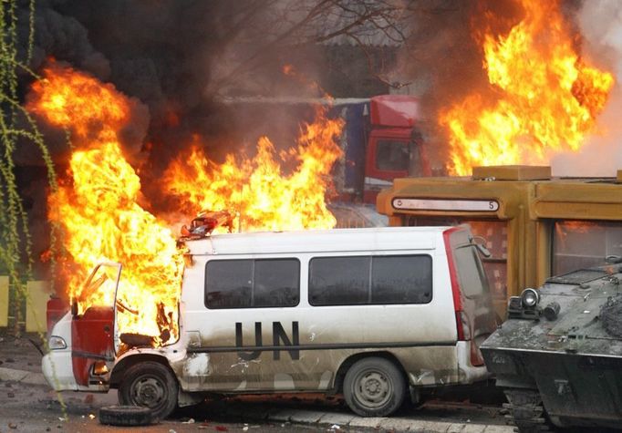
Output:
[[167,418],[177,407],[179,385],[171,370],[153,361],[128,368],[119,384],[119,403],[148,407],[157,420]]

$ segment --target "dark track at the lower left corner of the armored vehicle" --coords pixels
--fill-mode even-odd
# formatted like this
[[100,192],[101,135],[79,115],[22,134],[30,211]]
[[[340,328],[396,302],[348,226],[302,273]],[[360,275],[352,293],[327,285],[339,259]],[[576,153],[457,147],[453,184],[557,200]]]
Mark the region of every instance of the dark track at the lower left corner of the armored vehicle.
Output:
[[534,389],[506,389],[503,391],[510,403],[504,404],[510,410],[511,418],[521,433],[548,431],[546,412],[540,393]]

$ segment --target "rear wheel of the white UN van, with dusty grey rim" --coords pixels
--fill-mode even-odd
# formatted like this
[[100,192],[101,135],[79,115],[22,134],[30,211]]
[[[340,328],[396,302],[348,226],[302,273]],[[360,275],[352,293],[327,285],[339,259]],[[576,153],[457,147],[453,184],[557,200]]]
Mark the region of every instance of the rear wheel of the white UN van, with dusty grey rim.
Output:
[[404,376],[391,361],[373,356],[351,366],[344,380],[347,406],[361,417],[387,417],[403,403]]

